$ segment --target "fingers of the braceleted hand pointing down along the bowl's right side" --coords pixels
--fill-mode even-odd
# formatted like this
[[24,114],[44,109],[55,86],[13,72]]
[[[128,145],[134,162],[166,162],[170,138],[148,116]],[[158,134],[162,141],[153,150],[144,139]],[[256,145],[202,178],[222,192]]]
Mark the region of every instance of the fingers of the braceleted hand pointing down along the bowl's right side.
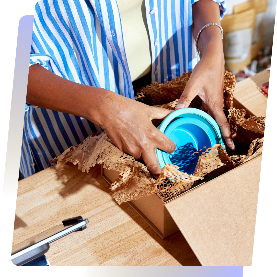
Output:
[[231,130],[229,122],[223,112],[221,104],[210,106],[208,114],[216,120],[217,124],[219,125],[223,137],[228,145],[228,147],[232,150],[235,150],[235,145],[231,136]]

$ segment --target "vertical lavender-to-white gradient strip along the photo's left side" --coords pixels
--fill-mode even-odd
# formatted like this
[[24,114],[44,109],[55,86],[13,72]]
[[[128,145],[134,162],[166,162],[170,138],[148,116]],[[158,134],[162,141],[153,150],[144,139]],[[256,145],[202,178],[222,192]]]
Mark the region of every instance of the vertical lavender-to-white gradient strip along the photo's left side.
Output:
[[3,197],[17,194],[33,22],[34,16],[23,16],[18,24]]

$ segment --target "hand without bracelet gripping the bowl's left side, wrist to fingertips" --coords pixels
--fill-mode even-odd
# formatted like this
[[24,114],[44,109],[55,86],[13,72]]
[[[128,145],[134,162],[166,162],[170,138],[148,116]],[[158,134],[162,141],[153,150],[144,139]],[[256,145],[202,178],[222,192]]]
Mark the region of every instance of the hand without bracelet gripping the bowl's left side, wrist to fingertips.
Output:
[[121,151],[137,160],[142,158],[157,178],[161,168],[156,148],[172,153],[175,144],[151,120],[163,119],[172,111],[148,106],[108,90],[103,90],[99,97],[97,113],[92,111],[90,120],[100,126]]

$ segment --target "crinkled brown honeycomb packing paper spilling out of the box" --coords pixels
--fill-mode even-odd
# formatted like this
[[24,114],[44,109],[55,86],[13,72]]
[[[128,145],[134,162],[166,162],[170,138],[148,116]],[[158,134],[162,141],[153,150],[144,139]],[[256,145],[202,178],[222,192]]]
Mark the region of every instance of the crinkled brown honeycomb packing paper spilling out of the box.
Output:
[[[154,82],[140,89],[135,99],[148,105],[175,109],[190,75],[191,72],[183,73],[182,76],[165,84]],[[79,145],[68,148],[50,162],[69,161],[74,165],[78,164],[78,169],[83,172],[89,172],[96,164],[103,164],[104,168],[119,171],[119,177],[111,184],[110,193],[119,204],[153,193],[166,202],[262,153],[265,118],[256,116],[245,119],[246,111],[233,108],[235,85],[234,75],[225,71],[224,113],[229,120],[235,146],[240,151],[239,155],[231,155],[231,150],[228,150],[228,155],[220,144],[214,145],[206,148],[204,152],[200,150],[201,155],[193,174],[179,171],[176,165],[166,164],[156,180],[143,163],[121,152],[104,132],[98,132],[87,137]],[[190,107],[200,106],[201,99],[197,96]],[[158,126],[161,120],[154,119],[152,122]]]

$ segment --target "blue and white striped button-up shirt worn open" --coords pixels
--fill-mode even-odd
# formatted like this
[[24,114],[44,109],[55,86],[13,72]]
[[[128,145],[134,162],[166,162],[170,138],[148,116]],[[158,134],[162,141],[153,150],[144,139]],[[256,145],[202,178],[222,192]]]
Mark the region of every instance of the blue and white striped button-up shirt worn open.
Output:
[[[219,4],[221,18],[226,12]],[[152,81],[191,71],[199,60],[192,35],[194,0],[145,0]],[[151,12],[155,10],[155,12]],[[134,99],[116,0],[41,0],[35,6],[30,66],[40,64],[76,83]],[[23,178],[101,128],[84,118],[25,106],[20,172]]]

